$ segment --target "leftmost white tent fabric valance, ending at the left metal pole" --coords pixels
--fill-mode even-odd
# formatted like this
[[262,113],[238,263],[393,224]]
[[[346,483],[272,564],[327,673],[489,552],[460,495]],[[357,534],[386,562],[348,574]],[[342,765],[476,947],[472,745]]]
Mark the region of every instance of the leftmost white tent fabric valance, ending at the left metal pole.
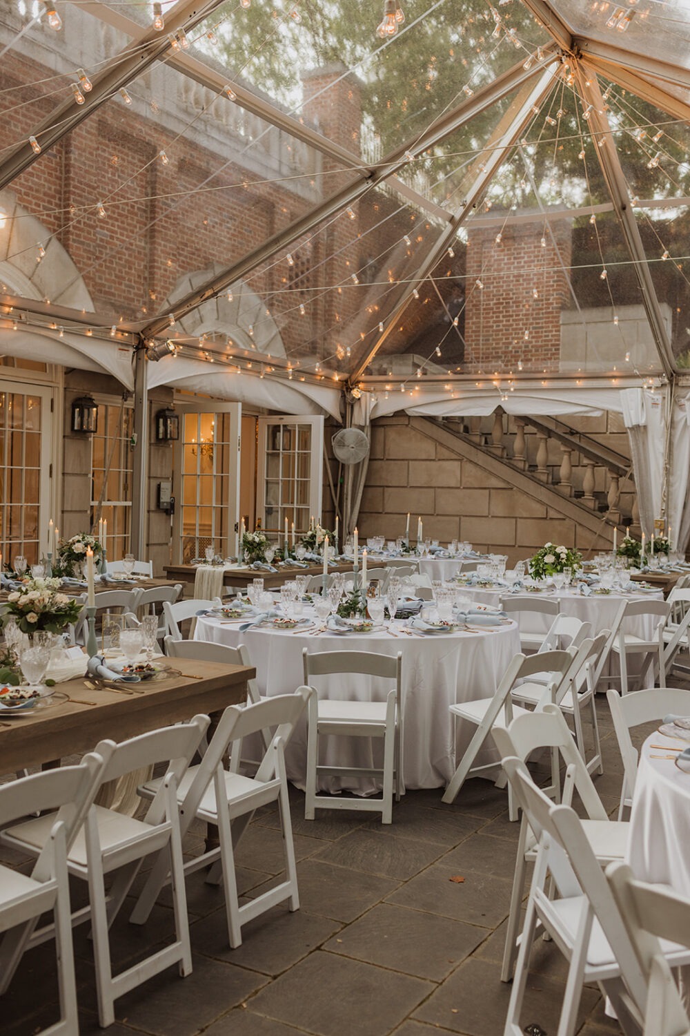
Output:
[[47,328],[0,328],[0,355],[21,356],[42,364],[58,364],[80,371],[112,374],[130,391],[134,387],[133,352],[129,346],[87,338],[65,330],[63,338]]

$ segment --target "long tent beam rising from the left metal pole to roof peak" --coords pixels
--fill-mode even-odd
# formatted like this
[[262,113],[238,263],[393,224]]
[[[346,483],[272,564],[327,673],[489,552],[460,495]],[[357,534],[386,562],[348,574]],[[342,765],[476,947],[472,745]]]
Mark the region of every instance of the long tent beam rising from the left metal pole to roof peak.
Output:
[[[518,89],[524,83],[534,79],[540,70],[552,65],[560,57],[554,53],[556,48],[551,48],[548,53],[532,69],[526,70],[522,63],[513,65],[508,71],[499,76],[485,87],[477,90],[472,97],[467,98],[462,104],[451,112],[443,115],[426,130],[421,136],[417,135],[411,140],[400,144],[395,150],[384,157],[374,170],[361,170],[352,183],[342,188],[336,194],[331,195],[306,215],[296,220],[283,230],[273,234],[262,246],[247,253],[244,258],[233,265],[226,267],[215,277],[205,284],[184,295],[171,309],[175,319],[185,316],[194,310],[201,303],[207,301],[220,294],[235,281],[244,278],[251,269],[260,263],[265,262],[280,249],[288,248],[293,241],[308,233],[323,220],[336,215],[344,210],[348,205],[357,201],[371,188],[390,179],[397,174],[408,164],[406,157],[411,152],[415,157],[423,154],[429,147],[441,143],[452,133],[471,121],[486,109],[502,100],[506,95]],[[160,315],[151,320],[142,330],[144,336],[158,335],[169,326],[169,314]]]

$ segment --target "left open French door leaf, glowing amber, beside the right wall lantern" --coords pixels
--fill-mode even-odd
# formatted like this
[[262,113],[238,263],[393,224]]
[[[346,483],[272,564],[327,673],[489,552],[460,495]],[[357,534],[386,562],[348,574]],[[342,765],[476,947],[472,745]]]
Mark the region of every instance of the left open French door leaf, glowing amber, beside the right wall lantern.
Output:
[[173,555],[186,564],[207,547],[236,554],[240,507],[240,403],[176,402]]

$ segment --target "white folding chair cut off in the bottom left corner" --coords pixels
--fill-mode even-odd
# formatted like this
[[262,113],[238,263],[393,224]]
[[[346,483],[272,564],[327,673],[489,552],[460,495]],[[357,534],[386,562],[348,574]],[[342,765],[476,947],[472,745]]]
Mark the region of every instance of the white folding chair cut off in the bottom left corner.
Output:
[[41,1030],[51,1036],[79,1032],[66,857],[93,802],[102,767],[102,758],[90,753],[79,766],[33,774],[0,787],[2,825],[50,810],[48,836],[31,874],[0,865],[0,932],[4,933],[0,995],[7,990],[25,950],[41,941],[33,938],[39,917],[53,912],[60,1018]]

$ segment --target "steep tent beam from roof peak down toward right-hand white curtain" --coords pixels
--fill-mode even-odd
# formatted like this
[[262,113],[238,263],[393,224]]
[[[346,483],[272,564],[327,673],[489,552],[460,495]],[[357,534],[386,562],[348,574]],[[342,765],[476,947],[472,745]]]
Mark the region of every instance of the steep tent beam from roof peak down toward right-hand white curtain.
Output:
[[625,174],[621,168],[618,151],[613,144],[613,134],[604,111],[604,99],[601,96],[599,83],[596,79],[588,79],[583,68],[578,67],[577,84],[586,103],[592,105],[591,125],[595,132],[595,139],[599,137],[597,144],[603,140],[601,147],[597,146],[595,150],[599,156],[601,170],[604,174],[611,199],[613,200],[613,211],[618,217],[626,247],[633,260],[635,276],[637,277],[637,283],[642,296],[642,305],[650,321],[659,359],[661,361],[664,373],[672,380],[676,366],[673,352],[661,313],[659,298],[654,287],[654,281],[652,280],[652,275],[647,263],[647,254],[639,234],[639,228],[635,221]]

